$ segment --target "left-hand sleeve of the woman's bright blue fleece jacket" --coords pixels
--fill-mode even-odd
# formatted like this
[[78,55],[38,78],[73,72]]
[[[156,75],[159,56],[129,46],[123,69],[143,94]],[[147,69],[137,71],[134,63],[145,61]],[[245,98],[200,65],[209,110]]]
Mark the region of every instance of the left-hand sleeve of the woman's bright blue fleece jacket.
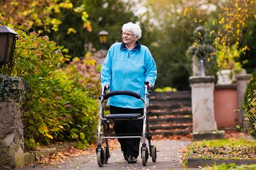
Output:
[[106,55],[104,63],[101,68],[101,86],[104,84],[111,86],[111,74],[112,74],[112,60],[110,52]]

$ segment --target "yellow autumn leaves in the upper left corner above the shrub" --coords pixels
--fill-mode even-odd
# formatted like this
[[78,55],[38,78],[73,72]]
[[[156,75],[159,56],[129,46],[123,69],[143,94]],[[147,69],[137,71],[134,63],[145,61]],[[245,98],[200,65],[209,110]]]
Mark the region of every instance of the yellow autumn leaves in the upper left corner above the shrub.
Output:
[[[88,31],[92,30],[85,5],[75,7],[69,0],[0,1],[0,11],[0,20],[4,25],[9,23],[19,28],[22,23],[29,23],[31,29],[38,33],[58,31],[65,19],[65,15],[61,12],[66,11],[66,14],[75,12],[80,15],[83,28]],[[69,28],[69,31],[75,32],[76,30]]]

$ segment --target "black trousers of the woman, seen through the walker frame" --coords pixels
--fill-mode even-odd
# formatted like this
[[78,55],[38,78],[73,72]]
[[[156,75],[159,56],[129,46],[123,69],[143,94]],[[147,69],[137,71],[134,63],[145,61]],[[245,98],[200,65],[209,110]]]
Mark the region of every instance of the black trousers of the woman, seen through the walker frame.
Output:
[[[121,114],[121,113],[140,113],[143,115],[142,109],[129,109],[120,108],[115,106],[110,106],[111,114]],[[143,129],[143,119],[139,120],[115,120],[114,130],[117,136],[127,136],[120,134],[138,134],[131,136],[141,136]],[[118,139],[121,145],[121,151],[123,154],[128,156],[134,156],[138,158],[140,152],[140,138],[122,138]]]

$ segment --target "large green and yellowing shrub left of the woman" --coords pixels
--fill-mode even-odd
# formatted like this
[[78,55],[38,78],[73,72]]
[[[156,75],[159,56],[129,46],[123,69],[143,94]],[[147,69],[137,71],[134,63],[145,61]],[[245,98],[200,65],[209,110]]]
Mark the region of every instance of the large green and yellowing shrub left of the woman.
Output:
[[[23,77],[31,86],[23,104],[25,149],[40,143],[78,140],[83,148],[95,140],[97,131],[97,95],[100,89],[99,72],[90,55],[70,64],[56,43],[47,36],[39,37],[16,30],[16,42],[11,76]],[[7,68],[4,68],[7,72]]]

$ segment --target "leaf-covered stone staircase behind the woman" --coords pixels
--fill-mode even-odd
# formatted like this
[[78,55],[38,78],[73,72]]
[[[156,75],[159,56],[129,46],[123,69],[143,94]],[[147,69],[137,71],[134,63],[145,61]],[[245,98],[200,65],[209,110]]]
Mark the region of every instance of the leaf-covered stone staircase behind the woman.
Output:
[[[106,107],[108,109],[108,107]],[[152,92],[148,110],[153,135],[187,135],[193,130],[191,91]],[[113,121],[108,133],[114,133]]]

